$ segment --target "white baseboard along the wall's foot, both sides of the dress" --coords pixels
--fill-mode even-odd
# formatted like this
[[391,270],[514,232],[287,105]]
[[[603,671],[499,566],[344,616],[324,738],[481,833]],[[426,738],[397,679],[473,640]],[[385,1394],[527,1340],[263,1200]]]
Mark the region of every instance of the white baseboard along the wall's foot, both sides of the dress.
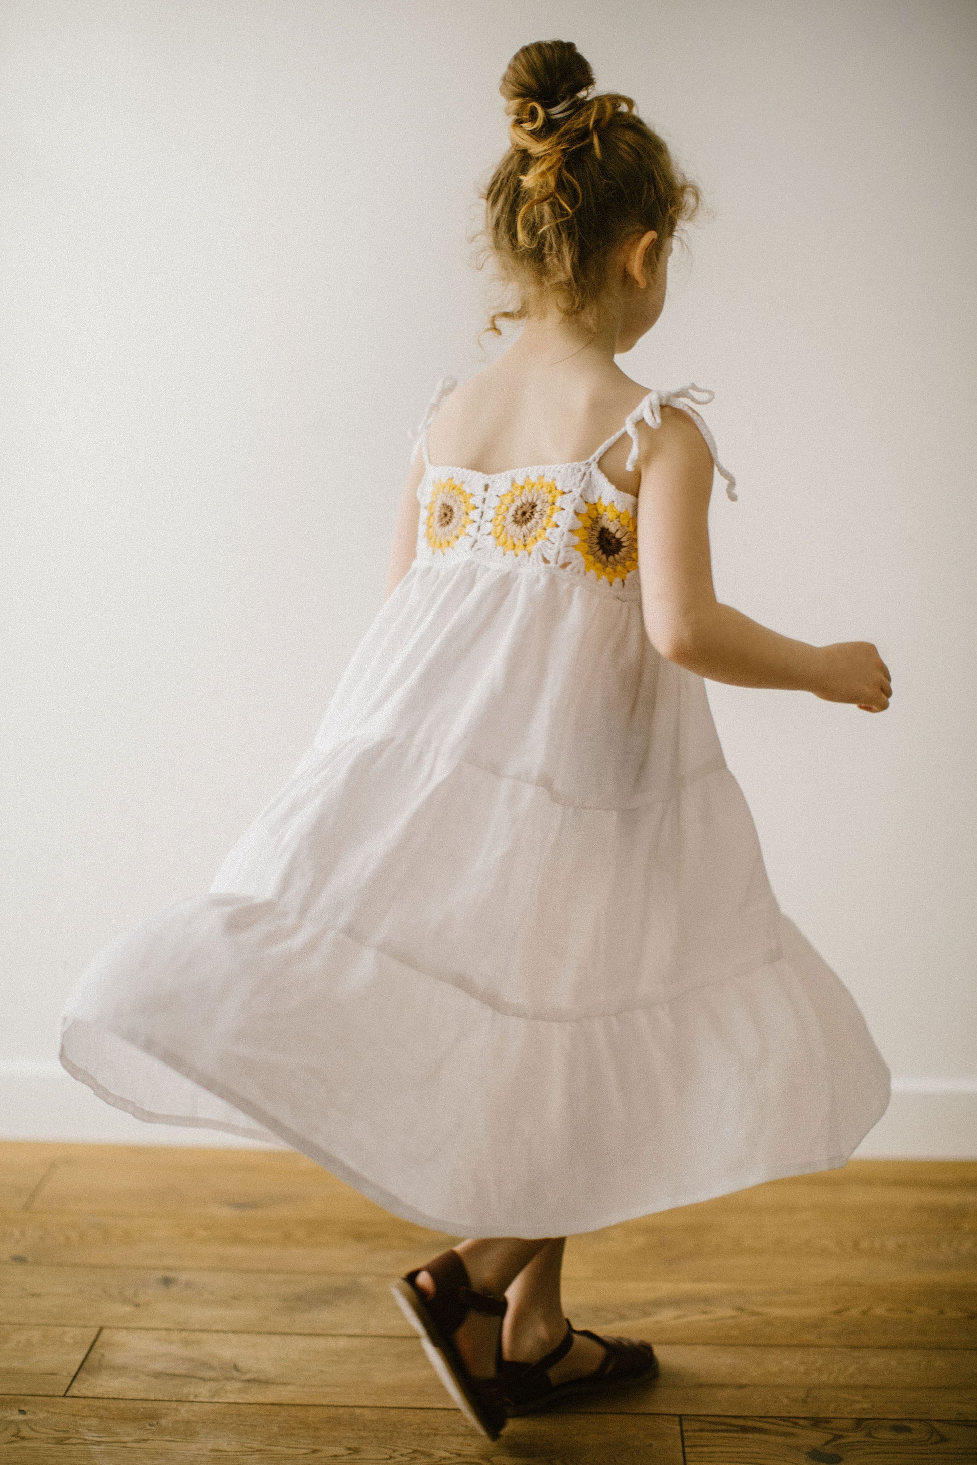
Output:
[[[103,1103],[60,1064],[9,1061],[0,1061],[0,1140],[265,1147],[220,1130],[144,1124]],[[889,1108],[855,1157],[977,1159],[977,1083],[894,1080]]]

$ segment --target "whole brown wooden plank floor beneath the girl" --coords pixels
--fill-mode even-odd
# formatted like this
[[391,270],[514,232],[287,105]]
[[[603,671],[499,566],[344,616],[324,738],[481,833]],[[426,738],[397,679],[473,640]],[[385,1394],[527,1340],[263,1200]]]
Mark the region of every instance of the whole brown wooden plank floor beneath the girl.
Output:
[[0,1459],[977,1465],[977,1163],[852,1162],[573,1238],[661,1379],[466,1425],[388,1292],[450,1245],[286,1151],[0,1144]]

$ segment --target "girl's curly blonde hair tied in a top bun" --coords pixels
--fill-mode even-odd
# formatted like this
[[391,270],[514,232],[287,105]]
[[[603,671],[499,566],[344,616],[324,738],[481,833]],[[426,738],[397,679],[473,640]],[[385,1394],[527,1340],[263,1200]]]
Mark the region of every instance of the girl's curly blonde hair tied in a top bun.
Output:
[[542,299],[595,330],[609,251],[653,229],[644,261],[653,271],[666,240],[702,202],[633,100],[592,95],[593,86],[573,41],[533,41],[505,67],[499,92],[510,148],[480,195],[479,264],[495,264],[517,305],[492,312],[486,330],[495,335],[498,321],[524,319]]

